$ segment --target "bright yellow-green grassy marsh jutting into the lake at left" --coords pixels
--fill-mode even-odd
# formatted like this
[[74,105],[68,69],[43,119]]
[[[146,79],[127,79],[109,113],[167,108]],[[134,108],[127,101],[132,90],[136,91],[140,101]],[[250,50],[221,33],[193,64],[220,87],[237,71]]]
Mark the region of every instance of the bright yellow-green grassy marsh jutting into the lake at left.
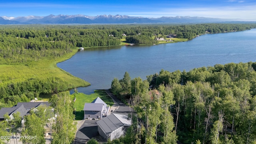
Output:
[[47,60],[45,58],[27,64],[0,65],[0,85],[22,82],[30,78],[45,79],[49,77],[59,77],[69,83],[68,88],[88,86],[90,83],[78,77],[72,76],[68,72],[56,66],[58,62],[71,58],[71,56],[76,54],[76,52],[77,50],[74,49],[71,53],[52,60]]

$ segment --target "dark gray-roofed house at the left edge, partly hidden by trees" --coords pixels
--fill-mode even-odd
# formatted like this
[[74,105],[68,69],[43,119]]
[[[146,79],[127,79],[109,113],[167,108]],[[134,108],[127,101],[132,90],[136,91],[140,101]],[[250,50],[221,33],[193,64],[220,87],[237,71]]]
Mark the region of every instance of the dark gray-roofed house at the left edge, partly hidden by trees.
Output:
[[37,108],[38,106],[46,105],[50,106],[48,102],[18,102],[17,105],[12,108],[1,108],[0,110],[0,120],[4,120],[4,114],[8,114],[12,118],[12,114],[16,112],[20,112],[20,116],[26,116],[29,111],[33,108]]

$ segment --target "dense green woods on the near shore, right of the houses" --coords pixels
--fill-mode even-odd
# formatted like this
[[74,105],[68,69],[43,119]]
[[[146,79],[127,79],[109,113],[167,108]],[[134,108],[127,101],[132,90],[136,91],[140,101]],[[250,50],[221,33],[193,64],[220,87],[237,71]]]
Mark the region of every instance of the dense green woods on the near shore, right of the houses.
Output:
[[[121,80],[115,78],[111,88],[119,98],[132,99],[143,125],[140,143],[170,143],[161,138],[168,130],[172,140],[176,132],[184,144],[251,144],[256,142],[255,70],[256,62],[248,62],[189,72],[161,70],[145,81],[129,82],[125,74]],[[162,129],[168,126],[166,119],[173,126]]]

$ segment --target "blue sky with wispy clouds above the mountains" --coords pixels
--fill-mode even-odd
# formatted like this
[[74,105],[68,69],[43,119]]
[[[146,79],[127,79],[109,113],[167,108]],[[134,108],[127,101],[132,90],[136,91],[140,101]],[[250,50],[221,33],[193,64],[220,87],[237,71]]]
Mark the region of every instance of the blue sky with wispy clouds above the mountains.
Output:
[[102,14],[256,20],[256,0],[0,0],[0,16]]

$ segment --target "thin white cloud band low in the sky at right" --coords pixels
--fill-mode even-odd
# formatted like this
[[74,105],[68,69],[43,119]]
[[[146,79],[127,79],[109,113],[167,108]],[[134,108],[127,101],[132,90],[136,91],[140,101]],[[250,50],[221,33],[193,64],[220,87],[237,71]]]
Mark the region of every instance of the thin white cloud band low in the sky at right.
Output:
[[212,7],[212,8],[168,8],[150,12],[122,12],[129,16],[161,17],[161,16],[200,16],[208,18],[227,18],[256,20],[256,5],[243,7]]

